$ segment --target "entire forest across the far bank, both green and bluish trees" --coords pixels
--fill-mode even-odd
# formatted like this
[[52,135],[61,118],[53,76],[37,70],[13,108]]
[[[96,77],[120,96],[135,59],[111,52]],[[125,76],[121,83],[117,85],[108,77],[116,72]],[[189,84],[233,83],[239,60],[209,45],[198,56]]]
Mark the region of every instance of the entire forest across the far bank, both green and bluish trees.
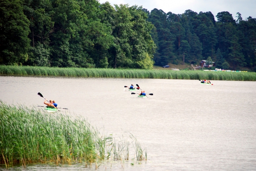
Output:
[[256,18],[167,14],[97,0],[1,0],[0,64],[143,68],[198,64],[256,68]]

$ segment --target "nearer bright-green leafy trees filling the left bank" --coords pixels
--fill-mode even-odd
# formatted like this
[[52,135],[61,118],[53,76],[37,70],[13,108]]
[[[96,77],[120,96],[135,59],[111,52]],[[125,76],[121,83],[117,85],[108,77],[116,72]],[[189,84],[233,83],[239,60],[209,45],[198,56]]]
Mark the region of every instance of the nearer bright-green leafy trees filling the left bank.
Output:
[[149,69],[156,46],[147,17],[97,0],[1,0],[0,64]]

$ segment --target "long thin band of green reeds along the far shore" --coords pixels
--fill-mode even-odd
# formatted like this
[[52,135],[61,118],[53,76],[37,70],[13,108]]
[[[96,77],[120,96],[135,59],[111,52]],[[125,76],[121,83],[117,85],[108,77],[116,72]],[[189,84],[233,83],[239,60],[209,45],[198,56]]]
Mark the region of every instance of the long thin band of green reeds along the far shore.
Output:
[[140,69],[102,69],[102,68],[56,68],[19,67],[0,65],[1,75],[38,75],[67,77],[105,77],[105,78],[156,78],[156,79],[207,79],[227,81],[256,81],[256,72],[211,72],[191,70],[140,70]]

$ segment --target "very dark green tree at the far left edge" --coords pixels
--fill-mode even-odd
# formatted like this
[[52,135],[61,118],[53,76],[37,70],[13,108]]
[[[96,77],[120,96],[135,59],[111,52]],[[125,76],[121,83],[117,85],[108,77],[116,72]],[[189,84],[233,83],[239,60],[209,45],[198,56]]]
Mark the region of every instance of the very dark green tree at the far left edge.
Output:
[[28,59],[29,20],[22,0],[0,1],[0,64],[22,64]]

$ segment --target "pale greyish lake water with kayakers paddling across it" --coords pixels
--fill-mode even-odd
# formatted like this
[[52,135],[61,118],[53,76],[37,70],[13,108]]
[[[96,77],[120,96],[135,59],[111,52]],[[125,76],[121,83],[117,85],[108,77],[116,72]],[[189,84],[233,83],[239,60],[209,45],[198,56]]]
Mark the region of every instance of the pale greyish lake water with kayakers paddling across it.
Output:
[[[124,86],[139,84],[147,99]],[[0,100],[43,105],[42,93],[115,137],[133,134],[148,160],[104,163],[99,171],[256,170],[256,82],[0,76]],[[139,93],[139,91],[135,92]],[[64,112],[64,110],[63,110]],[[0,170],[5,170],[0,168]],[[9,170],[95,170],[31,165]]]

